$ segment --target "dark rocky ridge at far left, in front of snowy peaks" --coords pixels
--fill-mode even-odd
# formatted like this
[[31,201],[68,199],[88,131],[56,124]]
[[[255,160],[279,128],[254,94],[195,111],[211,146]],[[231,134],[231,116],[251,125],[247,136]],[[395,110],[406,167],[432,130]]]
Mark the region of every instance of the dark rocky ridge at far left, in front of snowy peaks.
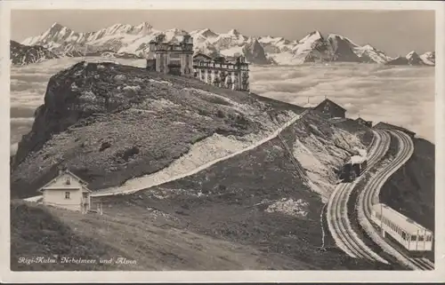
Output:
[[10,59],[13,65],[24,66],[46,59],[57,59],[58,56],[40,45],[24,45],[10,41]]

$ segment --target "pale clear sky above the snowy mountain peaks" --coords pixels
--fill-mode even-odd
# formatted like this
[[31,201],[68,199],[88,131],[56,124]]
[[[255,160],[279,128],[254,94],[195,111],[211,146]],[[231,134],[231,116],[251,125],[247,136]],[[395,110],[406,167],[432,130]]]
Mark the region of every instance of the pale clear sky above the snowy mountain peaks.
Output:
[[390,56],[413,50],[434,51],[435,44],[433,11],[15,10],[11,12],[11,38],[21,42],[28,36],[38,36],[54,22],[77,32],[89,32],[142,21],[160,30],[210,28],[224,33],[236,28],[245,36],[283,36],[289,40],[319,30],[322,35],[346,36],[355,44],[371,44]]

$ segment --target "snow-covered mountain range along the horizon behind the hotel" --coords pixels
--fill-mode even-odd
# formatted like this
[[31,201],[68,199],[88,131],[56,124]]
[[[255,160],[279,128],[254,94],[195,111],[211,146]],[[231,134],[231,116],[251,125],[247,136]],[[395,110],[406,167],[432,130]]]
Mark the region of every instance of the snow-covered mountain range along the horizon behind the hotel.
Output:
[[[149,51],[148,43],[160,33],[166,34],[167,39],[190,34],[195,51],[212,56],[245,55],[248,61],[255,64],[295,65],[331,61],[427,66],[435,64],[434,51],[422,55],[411,51],[405,57],[392,59],[370,44],[361,46],[344,36],[322,36],[319,31],[314,31],[301,40],[291,41],[274,36],[244,36],[237,29],[231,29],[225,34],[215,33],[209,28],[190,33],[180,28],[160,31],[147,22],[137,26],[116,24],[88,33],[78,33],[54,23],[40,36],[28,37],[21,44],[43,46],[59,57],[86,54],[144,58]],[[22,57],[20,54],[19,56]]]

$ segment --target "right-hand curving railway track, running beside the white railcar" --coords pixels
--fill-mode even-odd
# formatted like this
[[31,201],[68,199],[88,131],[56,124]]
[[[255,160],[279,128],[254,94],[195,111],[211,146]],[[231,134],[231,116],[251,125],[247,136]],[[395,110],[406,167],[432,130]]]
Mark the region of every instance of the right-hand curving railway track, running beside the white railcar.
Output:
[[387,254],[395,257],[402,265],[407,265],[414,270],[433,270],[434,264],[425,257],[409,257],[403,251],[392,246],[392,244],[379,234],[378,226],[371,222],[371,207],[373,201],[378,201],[378,194],[384,183],[392,176],[392,174],[399,170],[406,162],[408,162],[411,155],[414,153],[414,144],[409,136],[401,131],[386,131],[386,135],[391,133],[398,139],[400,147],[395,158],[384,166],[383,169],[376,172],[376,174],[369,180],[367,187],[362,191],[358,197],[359,221],[360,226],[363,227],[368,236],[376,242]]

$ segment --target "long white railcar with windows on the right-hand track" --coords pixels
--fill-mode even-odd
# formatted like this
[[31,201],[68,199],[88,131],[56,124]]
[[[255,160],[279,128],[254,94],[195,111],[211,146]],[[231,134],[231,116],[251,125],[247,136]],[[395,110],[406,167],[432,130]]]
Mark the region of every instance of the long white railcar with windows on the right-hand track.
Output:
[[373,205],[371,218],[384,236],[389,234],[409,252],[433,249],[433,232],[389,206],[383,203]]

